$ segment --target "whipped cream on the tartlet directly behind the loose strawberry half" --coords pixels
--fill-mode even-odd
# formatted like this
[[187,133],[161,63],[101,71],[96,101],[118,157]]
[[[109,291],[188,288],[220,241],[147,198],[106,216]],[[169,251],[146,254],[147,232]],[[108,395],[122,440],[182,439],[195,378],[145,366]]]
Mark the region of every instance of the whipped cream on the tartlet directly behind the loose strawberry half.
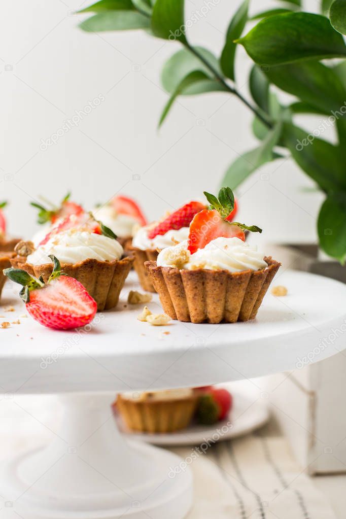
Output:
[[27,256],[27,263],[43,265],[51,263],[54,254],[61,263],[79,263],[88,258],[99,261],[119,260],[123,254],[120,243],[113,238],[91,233],[88,230],[68,229],[52,236]]

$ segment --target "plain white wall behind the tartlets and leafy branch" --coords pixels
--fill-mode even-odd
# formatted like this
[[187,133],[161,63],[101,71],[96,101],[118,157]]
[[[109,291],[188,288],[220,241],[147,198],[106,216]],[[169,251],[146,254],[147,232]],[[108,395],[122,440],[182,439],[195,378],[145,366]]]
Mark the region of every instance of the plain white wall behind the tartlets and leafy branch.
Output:
[[[193,43],[218,52],[239,0],[219,0],[190,30]],[[273,5],[257,0],[252,12]],[[317,9],[317,1],[308,7]],[[157,121],[167,94],[160,86],[164,60],[179,48],[141,31],[87,34],[75,0],[18,0],[0,20],[0,200],[11,202],[9,227],[30,236],[36,214],[29,202],[58,201],[72,190],[91,207],[116,192],[141,200],[150,218],[189,198],[214,192],[239,154],[256,145],[252,114],[238,99],[213,93],[183,98],[164,126]],[[84,2],[82,5],[88,5]],[[186,0],[187,12],[204,5]],[[277,3],[276,3],[277,6]],[[187,14],[188,16],[188,14]],[[238,52],[239,90],[248,95],[245,52]],[[41,151],[40,143],[75,110],[105,101]],[[262,173],[267,173],[267,180]],[[141,180],[132,180],[140,174]],[[238,189],[240,220],[264,228],[266,240],[312,241],[321,196],[290,160],[275,161]]]

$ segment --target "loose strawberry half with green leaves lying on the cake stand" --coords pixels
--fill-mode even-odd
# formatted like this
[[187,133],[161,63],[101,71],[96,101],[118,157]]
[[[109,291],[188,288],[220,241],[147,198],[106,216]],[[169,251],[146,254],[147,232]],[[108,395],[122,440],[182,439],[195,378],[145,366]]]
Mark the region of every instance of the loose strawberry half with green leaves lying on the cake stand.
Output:
[[98,305],[84,286],[65,276],[55,256],[50,256],[54,268],[47,284],[19,268],[7,268],[5,276],[23,285],[20,295],[33,319],[55,330],[70,330],[85,326],[95,316]]

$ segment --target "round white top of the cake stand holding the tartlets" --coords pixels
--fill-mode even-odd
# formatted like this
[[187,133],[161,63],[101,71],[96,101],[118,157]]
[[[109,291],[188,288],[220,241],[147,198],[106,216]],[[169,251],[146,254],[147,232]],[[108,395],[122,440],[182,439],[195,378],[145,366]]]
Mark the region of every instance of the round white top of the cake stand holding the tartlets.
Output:
[[[20,317],[18,286],[7,284],[0,307],[0,384],[4,392],[136,391],[199,386],[299,369],[345,348],[346,285],[297,271],[283,271],[257,318],[234,324],[171,321],[151,326],[129,305],[141,290],[131,272],[118,308],[98,313],[86,329],[49,330]],[[143,292],[143,291],[142,291]],[[15,311],[6,312],[13,306]],[[158,296],[148,304],[162,313]]]

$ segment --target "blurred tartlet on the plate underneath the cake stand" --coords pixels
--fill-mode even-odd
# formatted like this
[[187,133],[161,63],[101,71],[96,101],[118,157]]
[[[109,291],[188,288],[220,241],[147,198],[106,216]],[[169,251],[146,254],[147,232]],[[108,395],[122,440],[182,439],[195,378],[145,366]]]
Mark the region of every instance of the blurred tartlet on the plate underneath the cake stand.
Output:
[[198,394],[193,389],[171,389],[119,394],[116,406],[132,431],[166,433],[185,429],[195,413]]

